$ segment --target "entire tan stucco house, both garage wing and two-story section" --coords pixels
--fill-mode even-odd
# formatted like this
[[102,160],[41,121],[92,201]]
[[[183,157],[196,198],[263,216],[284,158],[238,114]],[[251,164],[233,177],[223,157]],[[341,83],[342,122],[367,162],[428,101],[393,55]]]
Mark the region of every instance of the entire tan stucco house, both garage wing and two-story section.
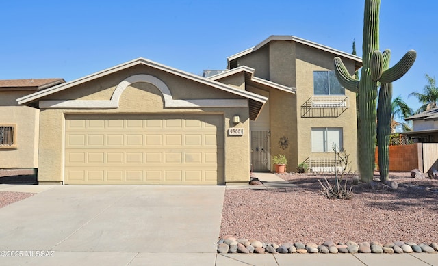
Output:
[[247,183],[250,170],[333,168],[336,144],[357,163],[351,73],[361,59],[294,36],[270,36],[198,77],[139,58],[18,98],[40,110],[38,182]]

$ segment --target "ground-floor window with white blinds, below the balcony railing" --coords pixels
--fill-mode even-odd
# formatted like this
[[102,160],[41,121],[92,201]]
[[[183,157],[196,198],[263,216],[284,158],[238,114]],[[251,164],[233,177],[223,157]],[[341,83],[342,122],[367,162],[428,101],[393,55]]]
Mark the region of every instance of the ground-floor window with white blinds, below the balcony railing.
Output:
[[337,150],[343,149],[342,127],[312,127],[312,152],[333,152],[333,145]]

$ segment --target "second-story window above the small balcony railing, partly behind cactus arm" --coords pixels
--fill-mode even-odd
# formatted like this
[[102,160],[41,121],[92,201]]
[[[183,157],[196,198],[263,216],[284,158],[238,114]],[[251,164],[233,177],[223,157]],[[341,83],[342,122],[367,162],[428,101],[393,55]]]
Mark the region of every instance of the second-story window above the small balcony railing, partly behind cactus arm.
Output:
[[335,71],[313,71],[313,94],[345,95],[345,89],[337,81]]

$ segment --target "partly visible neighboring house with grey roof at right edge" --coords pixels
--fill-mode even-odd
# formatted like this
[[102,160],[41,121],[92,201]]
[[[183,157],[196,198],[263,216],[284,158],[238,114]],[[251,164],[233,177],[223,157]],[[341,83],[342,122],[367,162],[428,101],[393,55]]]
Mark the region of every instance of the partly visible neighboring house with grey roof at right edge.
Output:
[[404,132],[415,142],[438,142],[438,108],[405,118],[412,121],[413,131]]

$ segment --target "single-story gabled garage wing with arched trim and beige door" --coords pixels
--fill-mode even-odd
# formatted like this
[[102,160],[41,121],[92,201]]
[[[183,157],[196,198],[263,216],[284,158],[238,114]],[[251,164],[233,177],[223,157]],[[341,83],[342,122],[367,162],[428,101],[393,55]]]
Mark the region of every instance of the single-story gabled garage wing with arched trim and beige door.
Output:
[[139,58],[18,103],[40,109],[40,184],[224,184],[248,180],[266,100]]

